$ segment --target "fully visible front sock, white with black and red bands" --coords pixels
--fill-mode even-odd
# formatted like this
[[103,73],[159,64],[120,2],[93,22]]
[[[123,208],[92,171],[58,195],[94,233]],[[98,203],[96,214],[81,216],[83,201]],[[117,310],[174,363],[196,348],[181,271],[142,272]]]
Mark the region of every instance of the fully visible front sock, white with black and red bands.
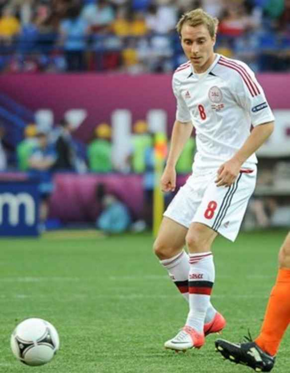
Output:
[[210,305],[215,278],[212,253],[209,251],[207,253],[190,254],[189,264],[189,314],[186,325],[201,333],[204,330],[205,316]]

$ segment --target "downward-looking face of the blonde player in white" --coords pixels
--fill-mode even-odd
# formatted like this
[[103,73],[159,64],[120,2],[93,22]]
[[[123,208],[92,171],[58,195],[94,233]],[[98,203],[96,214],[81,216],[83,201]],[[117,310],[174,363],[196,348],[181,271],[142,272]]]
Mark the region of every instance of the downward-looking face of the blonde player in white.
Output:
[[185,23],[181,29],[181,45],[196,73],[206,71],[214,62],[215,37],[209,35],[207,26],[192,27]]

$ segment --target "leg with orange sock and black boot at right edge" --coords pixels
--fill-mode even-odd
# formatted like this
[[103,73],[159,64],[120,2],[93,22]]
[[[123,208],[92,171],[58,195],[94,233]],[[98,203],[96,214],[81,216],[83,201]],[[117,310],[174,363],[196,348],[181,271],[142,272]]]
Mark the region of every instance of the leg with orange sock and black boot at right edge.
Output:
[[226,359],[248,365],[256,372],[272,370],[275,355],[290,323],[290,232],[280,248],[278,263],[278,276],[269,297],[258,338],[241,344],[223,339],[215,342],[216,350]]

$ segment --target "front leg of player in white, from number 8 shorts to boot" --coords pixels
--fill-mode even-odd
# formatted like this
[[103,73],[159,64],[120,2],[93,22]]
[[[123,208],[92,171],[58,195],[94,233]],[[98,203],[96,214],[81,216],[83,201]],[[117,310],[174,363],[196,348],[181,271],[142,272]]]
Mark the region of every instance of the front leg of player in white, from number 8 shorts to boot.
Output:
[[[230,187],[207,183],[186,236],[190,256],[189,314],[186,326],[166,347],[186,350],[204,344],[205,312],[215,278],[211,245],[218,233],[234,241],[255,187],[255,169],[241,172]],[[222,320],[225,324],[225,320]]]

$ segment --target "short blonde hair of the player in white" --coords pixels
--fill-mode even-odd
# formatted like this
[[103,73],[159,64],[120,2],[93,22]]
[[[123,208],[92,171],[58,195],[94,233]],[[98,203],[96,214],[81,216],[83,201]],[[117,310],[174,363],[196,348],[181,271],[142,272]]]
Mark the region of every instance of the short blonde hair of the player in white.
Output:
[[190,10],[190,12],[187,12],[181,16],[176,25],[176,30],[179,35],[181,35],[181,29],[185,23],[192,27],[205,25],[208,29],[209,35],[211,35],[211,38],[214,38],[217,33],[218,19],[216,17],[212,17],[201,8]]

